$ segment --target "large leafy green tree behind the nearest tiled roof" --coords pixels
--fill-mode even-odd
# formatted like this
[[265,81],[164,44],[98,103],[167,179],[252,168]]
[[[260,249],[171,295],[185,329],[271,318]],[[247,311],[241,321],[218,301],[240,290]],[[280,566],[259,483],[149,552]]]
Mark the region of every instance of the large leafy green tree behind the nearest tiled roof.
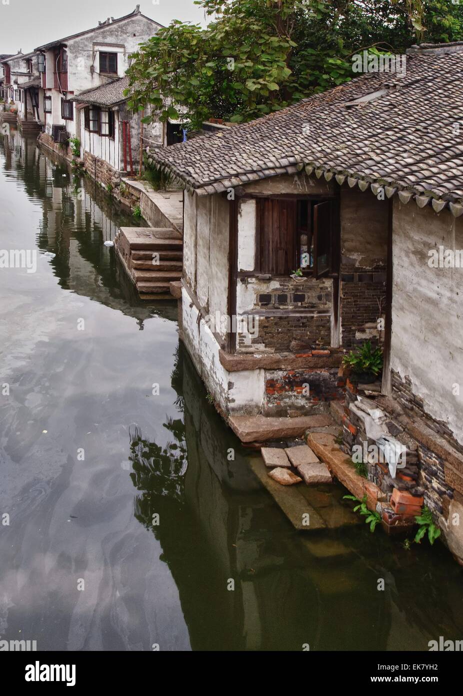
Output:
[[[352,54],[402,54],[416,40],[463,38],[448,0],[197,0],[211,22],[174,20],[140,45],[129,104],[190,128],[241,122],[352,78]],[[355,74],[354,74],[355,75]],[[145,116],[150,122],[152,116]]]

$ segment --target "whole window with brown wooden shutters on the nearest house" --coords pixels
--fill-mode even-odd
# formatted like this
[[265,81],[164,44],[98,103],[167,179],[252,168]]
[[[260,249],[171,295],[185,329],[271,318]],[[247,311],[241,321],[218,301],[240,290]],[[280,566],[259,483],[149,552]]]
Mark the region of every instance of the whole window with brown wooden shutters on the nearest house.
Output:
[[298,268],[316,278],[330,273],[330,201],[259,198],[257,230],[260,273],[287,276]]

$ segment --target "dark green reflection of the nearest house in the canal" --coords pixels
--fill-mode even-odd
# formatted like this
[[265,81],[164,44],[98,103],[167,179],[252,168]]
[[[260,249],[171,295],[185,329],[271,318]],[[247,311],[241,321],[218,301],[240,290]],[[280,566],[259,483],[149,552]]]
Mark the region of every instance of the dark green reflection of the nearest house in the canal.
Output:
[[172,387],[184,416],[165,421],[165,445],[132,426],[131,478],[136,518],[161,541],[193,649],[427,649],[434,634],[457,635],[463,612],[455,597],[434,591],[448,572],[440,563],[425,560],[442,578],[417,574],[414,551],[366,525],[295,532],[254,478],[254,455],[207,402],[183,349]]

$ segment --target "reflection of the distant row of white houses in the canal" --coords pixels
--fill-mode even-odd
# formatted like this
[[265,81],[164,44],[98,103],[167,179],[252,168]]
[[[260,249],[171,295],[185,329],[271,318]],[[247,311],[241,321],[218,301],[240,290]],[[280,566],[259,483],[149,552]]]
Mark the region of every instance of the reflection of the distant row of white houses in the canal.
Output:
[[35,139],[25,138],[14,127],[0,139],[0,146],[4,168],[15,170],[29,198],[42,203],[37,244],[42,251],[56,254],[51,266],[63,288],[135,317],[140,329],[145,319],[157,313],[177,319],[173,302],[155,307],[142,303],[113,248],[104,246],[120,226],[139,224],[131,214],[122,212],[95,182],[74,177],[64,160],[52,160]]

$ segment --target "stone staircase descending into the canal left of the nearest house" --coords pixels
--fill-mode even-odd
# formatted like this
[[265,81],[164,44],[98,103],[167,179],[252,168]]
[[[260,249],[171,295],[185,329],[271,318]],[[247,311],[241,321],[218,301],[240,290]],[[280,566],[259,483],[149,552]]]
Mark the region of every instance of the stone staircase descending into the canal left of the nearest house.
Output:
[[170,283],[181,279],[183,266],[179,230],[121,227],[114,247],[140,299],[172,299]]

